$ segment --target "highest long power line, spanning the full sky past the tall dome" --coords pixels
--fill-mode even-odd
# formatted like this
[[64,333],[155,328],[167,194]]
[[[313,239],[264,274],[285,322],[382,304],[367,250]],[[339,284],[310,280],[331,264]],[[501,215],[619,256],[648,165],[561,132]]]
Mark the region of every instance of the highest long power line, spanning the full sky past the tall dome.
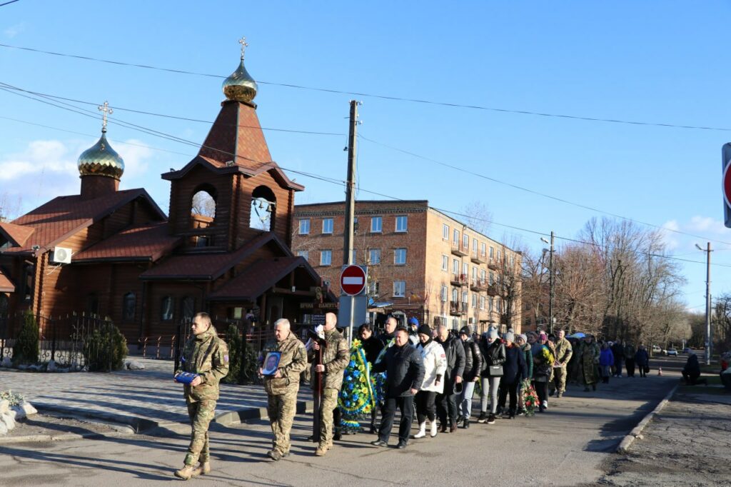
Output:
[[[48,51],[48,50],[26,48],[26,47],[10,45],[10,44],[1,44],[0,43],[0,47],[9,48],[9,49],[26,50],[26,51],[30,51],[30,52],[34,52],[34,53],[48,54],[50,56],[76,58],[76,59],[82,59],[84,61],[95,61],[95,62],[100,62],[100,63],[116,64],[118,66],[155,69],[157,71],[173,72],[173,73],[180,74],[180,75],[206,76],[208,78],[226,78],[225,76],[213,75],[211,73],[187,71],[185,69],[171,69],[171,68],[151,66],[149,64],[137,64],[137,63],[130,63],[130,62],[125,62],[125,61],[112,61],[110,59],[94,58],[91,56],[80,56],[77,54],[56,53],[56,52]],[[296,89],[308,90],[308,91],[320,91],[323,93],[346,94],[346,95],[354,96],[354,97],[368,97],[368,98],[376,98],[376,99],[385,99],[385,100],[396,101],[396,102],[411,102],[411,103],[419,103],[419,104],[423,104],[423,105],[437,105],[437,106],[442,106],[442,107],[465,108],[465,109],[470,109],[470,110],[484,110],[484,111],[491,111],[491,112],[497,112],[497,113],[515,113],[518,115],[539,116],[539,117],[545,117],[545,118],[564,118],[564,119],[569,119],[569,120],[594,121],[594,122],[603,122],[603,123],[609,123],[609,124],[642,125],[645,127],[666,127],[666,128],[673,128],[673,129],[714,130],[714,131],[721,131],[721,132],[731,132],[731,128],[726,128],[726,127],[705,127],[705,126],[698,126],[698,125],[664,124],[664,123],[648,122],[648,121],[622,120],[619,118],[602,118],[602,117],[567,115],[565,113],[545,113],[545,112],[537,112],[537,111],[531,111],[531,110],[515,110],[515,109],[509,109],[509,108],[487,107],[484,105],[465,105],[465,104],[461,104],[461,103],[437,102],[437,101],[428,100],[428,99],[393,97],[393,96],[382,95],[382,94],[363,93],[361,91],[346,91],[346,90],[338,90],[338,89],[333,89],[333,88],[318,88],[315,86],[304,86],[304,85],[299,85],[299,84],[294,84],[294,83],[276,83],[273,81],[257,80],[257,83],[260,83],[262,85],[270,85],[270,86],[282,86],[284,88],[296,88]]]

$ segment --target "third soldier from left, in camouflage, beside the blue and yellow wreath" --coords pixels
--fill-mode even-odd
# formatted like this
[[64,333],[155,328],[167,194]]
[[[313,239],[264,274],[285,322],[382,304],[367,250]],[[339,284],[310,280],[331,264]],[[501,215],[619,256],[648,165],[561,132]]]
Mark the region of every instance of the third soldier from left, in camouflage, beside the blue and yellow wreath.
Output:
[[[336,329],[338,318],[333,313],[325,314],[325,348],[322,351],[322,364],[317,360],[312,362],[313,389],[317,387],[316,374],[322,377],[322,401],[320,403],[320,438],[315,455],[324,456],[327,450],[333,447],[333,411],[338,407],[338,393],[343,385],[343,373],[350,361],[348,344],[341,333]],[[319,350],[317,342],[313,350]],[[317,391],[316,391],[317,393]],[[338,428],[340,425],[337,425]]]

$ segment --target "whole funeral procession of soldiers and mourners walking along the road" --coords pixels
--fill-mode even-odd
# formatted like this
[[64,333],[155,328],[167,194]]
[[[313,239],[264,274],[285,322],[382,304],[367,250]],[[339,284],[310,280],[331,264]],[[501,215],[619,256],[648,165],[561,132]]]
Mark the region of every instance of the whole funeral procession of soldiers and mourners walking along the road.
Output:
[[[436,329],[409,319],[398,325],[389,317],[376,336],[371,325],[357,328],[351,347],[337,328],[336,314],[327,313],[325,324],[308,331],[306,343],[290,329],[287,319],[274,323],[275,340],[260,354],[260,378],[268,394],[268,417],[273,433],[267,455],[279,461],[290,452],[289,432],[295,418],[300,380],[314,394],[314,455],[325,456],[333,439],[364,431],[360,421],[370,421],[377,434],[374,447],[387,447],[395,412],[396,448],[409,439],[436,437],[469,429],[477,423],[492,425],[499,418],[532,416],[548,411],[548,398],[561,398],[567,382],[596,390],[610,377],[640,377],[648,371],[648,351],[643,345],[603,341],[575,333],[564,336],[496,328],[478,336],[469,326],[458,333],[439,325]],[[229,369],[227,344],[219,339],[206,313],[195,315],[192,336],[183,350],[175,380],[183,382],[192,423],[190,445],[182,469],[184,480],[211,471],[208,425],[214,418],[219,380]],[[473,397],[480,410],[473,413]],[[376,423],[378,413],[381,420]],[[416,416],[418,431],[411,434]]]

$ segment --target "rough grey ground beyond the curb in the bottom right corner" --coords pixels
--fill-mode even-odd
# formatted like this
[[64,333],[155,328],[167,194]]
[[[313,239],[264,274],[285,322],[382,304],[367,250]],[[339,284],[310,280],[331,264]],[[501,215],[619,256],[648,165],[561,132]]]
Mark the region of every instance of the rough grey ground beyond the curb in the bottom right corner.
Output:
[[601,485],[731,486],[731,393],[681,386],[607,471]]

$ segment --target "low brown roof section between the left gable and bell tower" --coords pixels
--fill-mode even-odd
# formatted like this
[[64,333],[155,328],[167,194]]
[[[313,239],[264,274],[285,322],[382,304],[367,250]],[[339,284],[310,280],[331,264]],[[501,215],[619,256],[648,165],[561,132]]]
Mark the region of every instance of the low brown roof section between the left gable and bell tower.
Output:
[[181,237],[168,235],[167,222],[129,227],[74,255],[74,262],[97,260],[155,262],[171,252]]

